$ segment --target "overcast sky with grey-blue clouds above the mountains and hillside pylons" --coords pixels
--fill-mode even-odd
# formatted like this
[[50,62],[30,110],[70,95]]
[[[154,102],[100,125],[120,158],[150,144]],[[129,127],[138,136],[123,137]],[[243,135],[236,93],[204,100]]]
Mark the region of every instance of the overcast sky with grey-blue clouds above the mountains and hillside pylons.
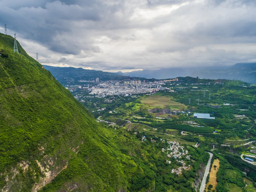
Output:
[[256,62],[255,0],[0,0],[43,65],[131,71]]

